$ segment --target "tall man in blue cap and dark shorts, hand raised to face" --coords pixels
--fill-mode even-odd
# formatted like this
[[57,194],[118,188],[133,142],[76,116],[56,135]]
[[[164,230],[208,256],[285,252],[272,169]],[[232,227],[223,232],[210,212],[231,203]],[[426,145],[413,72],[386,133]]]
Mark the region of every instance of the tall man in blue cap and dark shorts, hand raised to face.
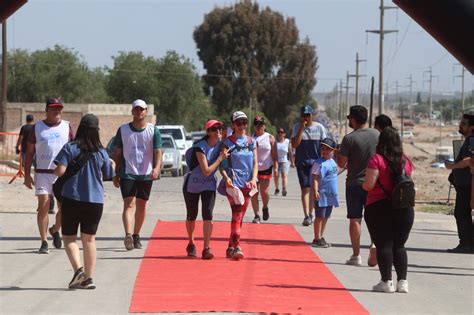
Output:
[[303,225],[313,223],[313,207],[310,202],[311,167],[320,158],[320,142],[326,135],[326,128],[313,121],[313,108],[304,105],[300,108],[301,120],[291,135],[291,145],[295,148],[295,165],[301,187],[301,201],[303,204]]

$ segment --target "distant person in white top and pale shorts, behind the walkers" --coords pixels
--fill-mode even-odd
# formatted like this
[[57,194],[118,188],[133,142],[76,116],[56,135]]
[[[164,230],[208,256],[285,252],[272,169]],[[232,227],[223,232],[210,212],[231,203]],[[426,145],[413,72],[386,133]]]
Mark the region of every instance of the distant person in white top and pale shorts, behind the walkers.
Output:
[[284,128],[278,128],[276,140],[278,170],[273,173],[275,176],[275,196],[280,194],[279,180],[281,175],[281,195],[285,197],[287,194],[286,187],[288,185],[289,166],[295,167],[295,160],[293,158],[291,142],[286,138],[286,131]]

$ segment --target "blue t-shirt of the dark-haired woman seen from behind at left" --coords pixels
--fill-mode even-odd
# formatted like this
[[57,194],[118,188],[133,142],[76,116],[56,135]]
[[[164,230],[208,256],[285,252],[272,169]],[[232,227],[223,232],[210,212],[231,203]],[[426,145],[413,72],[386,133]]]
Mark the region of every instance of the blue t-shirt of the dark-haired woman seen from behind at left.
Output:
[[[56,165],[68,166],[80,154],[75,142],[67,143],[54,159]],[[84,202],[104,203],[104,186],[102,179],[110,180],[115,172],[105,149],[94,153],[79,172],[67,180],[63,186],[62,196]]]

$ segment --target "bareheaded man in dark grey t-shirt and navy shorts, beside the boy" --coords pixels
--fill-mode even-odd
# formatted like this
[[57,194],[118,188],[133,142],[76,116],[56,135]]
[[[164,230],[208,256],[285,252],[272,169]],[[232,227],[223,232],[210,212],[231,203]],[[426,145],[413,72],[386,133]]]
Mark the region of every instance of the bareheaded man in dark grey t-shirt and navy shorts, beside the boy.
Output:
[[367,109],[361,105],[349,109],[349,127],[354,129],[344,136],[340,150],[336,150],[337,165],[347,168],[346,204],[349,223],[349,235],[352,245],[352,256],[346,261],[348,265],[362,265],[360,256],[360,233],[362,212],[367,199],[367,192],[362,189],[365,169],[369,159],[375,154],[379,132],[368,127]]

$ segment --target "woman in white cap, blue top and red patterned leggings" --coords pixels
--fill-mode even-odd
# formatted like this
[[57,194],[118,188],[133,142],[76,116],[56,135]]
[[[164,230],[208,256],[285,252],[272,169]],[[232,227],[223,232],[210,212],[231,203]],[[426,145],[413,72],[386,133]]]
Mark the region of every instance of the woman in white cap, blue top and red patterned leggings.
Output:
[[227,199],[232,209],[229,246],[226,257],[234,260],[244,258],[240,248],[242,221],[250,202],[250,193],[257,189],[257,149],[256,141],[245,134],[248,118],[244,112],[232,114],[234,133],[224,140],[224,148],[229,149],[227,167],[222,167],[221,174],[225,181]]

